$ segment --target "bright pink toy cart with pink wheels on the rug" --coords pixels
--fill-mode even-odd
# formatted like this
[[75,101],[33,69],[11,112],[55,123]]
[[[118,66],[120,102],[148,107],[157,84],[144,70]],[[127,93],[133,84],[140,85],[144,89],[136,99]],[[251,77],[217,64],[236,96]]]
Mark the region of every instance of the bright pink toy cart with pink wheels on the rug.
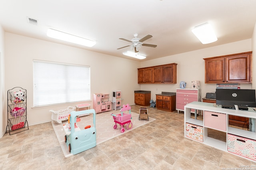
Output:
[[[121,126],[121,133],[124,132],[124,125],[126,125],[127,129],[130,130],[132,128],[132,122],[131,122],[131,119],[132,119],[132,115],[131,115],[131,107],[129,106],[129,104],[127,105],[123,105],[123,108],[120,110],[121,111],[121,114],[117,114],[117,115],[114,115],[114,114],[111,114],[113,119],[114,119],[114,129],[117,128],[117,123],[120,124]],[[123,113],[123,111],[129,111],[129,114],[127,113]]]

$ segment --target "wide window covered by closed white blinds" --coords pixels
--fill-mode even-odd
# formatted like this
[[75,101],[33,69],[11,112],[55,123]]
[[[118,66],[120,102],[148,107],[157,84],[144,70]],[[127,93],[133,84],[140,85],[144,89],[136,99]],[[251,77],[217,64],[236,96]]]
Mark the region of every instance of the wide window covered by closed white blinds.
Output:
[[90,100],[90,67],[33,61],[34,107]]

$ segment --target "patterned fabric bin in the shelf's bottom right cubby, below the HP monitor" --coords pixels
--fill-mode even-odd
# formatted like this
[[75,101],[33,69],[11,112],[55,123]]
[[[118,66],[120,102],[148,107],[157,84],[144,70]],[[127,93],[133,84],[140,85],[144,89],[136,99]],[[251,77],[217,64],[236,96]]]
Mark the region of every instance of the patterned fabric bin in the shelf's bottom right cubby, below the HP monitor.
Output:
[[256,141],[228,134],[228,152],[256,160]]

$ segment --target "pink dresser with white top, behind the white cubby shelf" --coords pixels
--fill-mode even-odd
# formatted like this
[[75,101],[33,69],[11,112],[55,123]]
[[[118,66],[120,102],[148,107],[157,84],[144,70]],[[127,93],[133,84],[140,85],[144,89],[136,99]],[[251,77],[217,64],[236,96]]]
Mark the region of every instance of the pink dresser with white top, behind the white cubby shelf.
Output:
[[[193,101],[201,101],[200,89],[176,89],[176,110],[184,111],[184,106]],[[191,110],[194,113],[194,109]]]

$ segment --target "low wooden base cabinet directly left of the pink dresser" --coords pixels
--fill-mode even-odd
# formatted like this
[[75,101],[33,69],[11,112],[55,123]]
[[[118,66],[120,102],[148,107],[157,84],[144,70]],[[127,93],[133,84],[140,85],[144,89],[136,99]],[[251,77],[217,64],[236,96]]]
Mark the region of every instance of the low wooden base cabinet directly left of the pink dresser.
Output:
[[164,96],[156,95],[156,108],[164,111],[175,111],[176,95]]

